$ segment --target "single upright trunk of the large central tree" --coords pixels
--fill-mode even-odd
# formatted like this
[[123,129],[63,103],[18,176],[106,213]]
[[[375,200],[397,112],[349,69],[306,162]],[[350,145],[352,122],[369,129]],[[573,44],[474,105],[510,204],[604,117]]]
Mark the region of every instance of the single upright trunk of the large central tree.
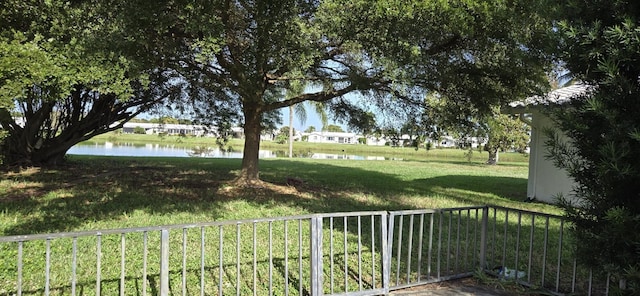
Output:
[[262,132],[262,113],[256,109],[244,110],[244,151],[242,169],[236,181],[252,185],[260,182],[258,175],[258,152],[260,150],[260,133]]

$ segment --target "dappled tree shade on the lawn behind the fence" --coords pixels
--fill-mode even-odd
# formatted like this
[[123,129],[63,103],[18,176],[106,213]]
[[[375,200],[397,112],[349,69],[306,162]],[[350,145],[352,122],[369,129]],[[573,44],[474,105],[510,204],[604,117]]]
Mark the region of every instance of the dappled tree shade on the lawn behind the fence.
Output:
[[[196,214],[209,220],[262,214],[249,210],[246,214],[253,216],[234,213],[230,218],[234,209],[225,205],[239,200],[261,208],[283,206],[320,213],[421,207],[398,199],[399,195],[425,199],[438,195],[464,204],[486,204],[491,200],[479,197],[521,200],[526,190],[522,178],[443,175],[407,181],[328,162],[269,160],[261,163],[261,178],[285,190],[269,187],[225,193],[239,167],[239,159],[74,157],[63,167],[6,174],[3,182],[13,183],[0,187],[0,213],[16,213],[19,219],[3,223],[0,230],[4,235],[71,231],[86,227],[87,222],[122,219],[134,211],[153,216]],[[305,183],[295,189],[287,187],[289,176]],[[354,198],[354,194],[367,198]]]

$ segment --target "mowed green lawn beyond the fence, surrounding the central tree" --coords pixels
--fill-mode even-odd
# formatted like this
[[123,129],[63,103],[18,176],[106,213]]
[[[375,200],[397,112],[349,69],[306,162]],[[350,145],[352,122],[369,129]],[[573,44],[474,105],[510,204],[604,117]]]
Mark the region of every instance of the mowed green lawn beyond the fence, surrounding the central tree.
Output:
[[[411,161],[264,159],[268,183],[257,188],[230,185],[240,159],[70,156],[57,168],[3,172],[0,235],[485,204],[559,213],[522,202],[526,158],[487,166],[455,152]],[[303,183],[287,185],[292,177]]]

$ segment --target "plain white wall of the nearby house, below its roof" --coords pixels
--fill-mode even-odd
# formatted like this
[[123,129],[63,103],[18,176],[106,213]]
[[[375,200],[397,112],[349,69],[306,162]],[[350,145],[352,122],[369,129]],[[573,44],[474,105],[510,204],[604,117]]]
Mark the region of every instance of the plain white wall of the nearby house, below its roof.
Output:
[[[533,113],[527,196],[548,203],[555,203],[555,197],[559,193],[565,197],[572,196],[572,188],[575,184],[565,170],[556,168],[553,162],[546,158],[545,142],[548,137],[543,130],[552,126],[553,121],[549,117],[537,111]],[[563,135],[560,137],[562,140],[568,139]]]

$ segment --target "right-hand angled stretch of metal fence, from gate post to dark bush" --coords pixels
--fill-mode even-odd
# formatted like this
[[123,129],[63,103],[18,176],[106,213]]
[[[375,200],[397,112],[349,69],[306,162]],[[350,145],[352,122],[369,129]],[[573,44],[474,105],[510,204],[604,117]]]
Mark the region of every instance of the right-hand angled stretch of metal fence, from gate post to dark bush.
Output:
[[389,214],[390,289],[482,272],[541,292],[607,295],[609,278],[580,266],[562,217],[504,207]]

